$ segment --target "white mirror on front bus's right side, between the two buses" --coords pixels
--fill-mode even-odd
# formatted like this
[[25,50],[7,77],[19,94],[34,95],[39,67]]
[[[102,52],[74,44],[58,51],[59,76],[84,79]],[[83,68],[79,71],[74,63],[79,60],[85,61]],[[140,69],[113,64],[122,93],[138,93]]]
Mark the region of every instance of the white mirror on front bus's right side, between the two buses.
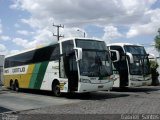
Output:
[[112,62],[118,62],[120,60],[120,55],[117,50],[110,50],[110,56]]

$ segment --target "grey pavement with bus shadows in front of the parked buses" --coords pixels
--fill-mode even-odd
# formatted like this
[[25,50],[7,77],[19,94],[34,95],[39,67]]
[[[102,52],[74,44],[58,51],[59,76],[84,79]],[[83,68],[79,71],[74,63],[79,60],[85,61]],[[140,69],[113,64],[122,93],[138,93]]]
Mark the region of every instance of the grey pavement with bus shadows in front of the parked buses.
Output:
[[[62,97],[53,97],[50,92],[5,91],[0,94],[0,106],[9,109],[10,114],[18,115],[19,118],[27,115],[41,119],[42,115],[58,115],[65,119],[69,115],[72,118],[75,115],[97,115],[96,117],[105,119],[110,115],[107,119],[112,119],[112,116],[121,118],[126,114],[160,115],[160,86],[113,89],[110,92],[100,91],[91,94],[64,94]],[[160,116],[158,117],[160,119]]]

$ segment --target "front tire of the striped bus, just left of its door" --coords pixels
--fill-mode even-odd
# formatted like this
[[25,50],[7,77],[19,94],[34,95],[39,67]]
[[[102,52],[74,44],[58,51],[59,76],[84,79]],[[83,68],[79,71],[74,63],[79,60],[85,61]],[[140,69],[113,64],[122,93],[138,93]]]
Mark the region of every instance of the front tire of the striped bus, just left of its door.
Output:
[[52,92],[54,94],[54,96],[56,97],[60,97],[61,96],[61,92],[60,92],[60,86],[59,86],[59,82],[57,80],[55,80],[52,84]]

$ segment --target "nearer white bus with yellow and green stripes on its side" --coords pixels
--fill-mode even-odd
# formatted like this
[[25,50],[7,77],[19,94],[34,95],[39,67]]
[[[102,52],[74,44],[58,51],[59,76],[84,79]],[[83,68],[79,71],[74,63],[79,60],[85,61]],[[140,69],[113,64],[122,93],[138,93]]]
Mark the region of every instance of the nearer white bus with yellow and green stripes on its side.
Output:
[[112,64],[106,44],[89,38],[69,38],[56,44],[7,56],[4,84],[62,92],[92,92],[113,87]]

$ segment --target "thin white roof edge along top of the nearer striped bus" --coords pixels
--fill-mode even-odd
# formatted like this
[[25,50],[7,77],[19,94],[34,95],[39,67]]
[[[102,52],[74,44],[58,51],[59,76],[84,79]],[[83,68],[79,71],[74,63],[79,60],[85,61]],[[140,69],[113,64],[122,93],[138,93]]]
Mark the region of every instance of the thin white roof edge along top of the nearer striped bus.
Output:
[[5,56],[5,58],[12,57],[12,56],[15,56],[15,55],[19,55],[19,54],[22,54],[22,53],[26,53],[26,52],[29,52],[29,51],[32,51],[32,50],[44,48],[44,47],[47,47],[47,46],[51,46],[51,45],[54,45],[54,44],[57,44],[57,43],[60,43],[60,42],[67,41],[67,40],[74,40],[74,39],[103,41],[103,40],[94,39],[94,38],[81,38],[81,37],[64,38],[64,39],[59,40],[58,42],[51,42],[51,43],[48,44],[48,45],[41,45],[41,46],[38,46],[38,47],[36,47],[36,48],[27,49],[27,50],[23,50],[23,51],[20,51],[20,52],[18,52],[18,53],[15,53],[15,54],[7,55],[7,56]]

